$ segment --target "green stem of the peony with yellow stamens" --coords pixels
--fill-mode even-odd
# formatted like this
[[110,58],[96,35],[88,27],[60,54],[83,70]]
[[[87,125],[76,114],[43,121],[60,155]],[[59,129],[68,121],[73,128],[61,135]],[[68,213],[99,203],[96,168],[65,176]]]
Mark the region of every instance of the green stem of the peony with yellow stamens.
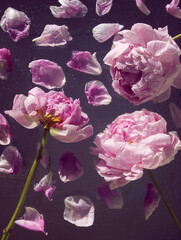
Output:
[[10,235],[10,233],[11,233],[13,227],[14,227],[15,220],[19,217],[21,209],[22,209],[22,207],[24,205],[24,202],[26,200],[26,196],[27,196],[27,192],[28,192],[31,180],[32,180],[32,178],[33,178],[33,176],[34,176],[34,174],[36,172],[36,169],[38,167],[38,164],[40,163],[40,160],[42,158],[43,151],[44,151],[46,143],[47,143],[48,134],[49,134],[49,131],[44,128],[40,149],[39,149],[39,151],[38,151],[38,153],[37,153],[37,155],[35,157],[35,160],[33,162],[32,167],[31,167],[31,169],[29,171],[28,177],[26,179],[23,191],[21,193],[19,202],[18,202],[17,207],[16,207],[16,209],[14,211],[14,214],[13,214],[13,216],[12,216],[8,226],[3,230],[3,236],[1,238],[1,240],[7,240],[9,238],[9,235]]

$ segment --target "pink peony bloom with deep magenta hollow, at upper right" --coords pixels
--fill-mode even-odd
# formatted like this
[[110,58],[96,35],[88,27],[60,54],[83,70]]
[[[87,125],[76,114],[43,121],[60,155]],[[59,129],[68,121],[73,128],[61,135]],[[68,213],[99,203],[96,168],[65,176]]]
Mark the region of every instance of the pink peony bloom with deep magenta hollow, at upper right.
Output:
[[174,82],[181,71],[180,54],[167,27],[157,30],[137,23],[119,32],[104,62],[111,66],[114,90],[139,105],[165,101],[171,85],[180,88]]

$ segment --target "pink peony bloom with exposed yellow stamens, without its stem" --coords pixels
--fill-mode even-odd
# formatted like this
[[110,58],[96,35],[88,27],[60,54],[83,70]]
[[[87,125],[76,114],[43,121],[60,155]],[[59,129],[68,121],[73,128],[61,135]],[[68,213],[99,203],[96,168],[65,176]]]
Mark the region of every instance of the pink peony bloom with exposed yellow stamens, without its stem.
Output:
[[42,123],[54,138],[62,142],[78,142],[93,134],[92,126],[85,126],[89,118],[82,112],[79,99],[68,98],[63,91],[45,93],[35,87],[29,91],[28,97],[17,94],[13,109],[5,113],[29,129]]

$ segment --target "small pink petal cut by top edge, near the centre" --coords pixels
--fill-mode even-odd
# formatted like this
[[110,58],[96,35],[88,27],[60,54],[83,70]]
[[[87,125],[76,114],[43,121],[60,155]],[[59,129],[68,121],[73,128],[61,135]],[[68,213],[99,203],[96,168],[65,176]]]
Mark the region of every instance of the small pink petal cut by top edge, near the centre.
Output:
[[96,13],[98,16],[107,14],[112,8],[113,0],[97,0]]

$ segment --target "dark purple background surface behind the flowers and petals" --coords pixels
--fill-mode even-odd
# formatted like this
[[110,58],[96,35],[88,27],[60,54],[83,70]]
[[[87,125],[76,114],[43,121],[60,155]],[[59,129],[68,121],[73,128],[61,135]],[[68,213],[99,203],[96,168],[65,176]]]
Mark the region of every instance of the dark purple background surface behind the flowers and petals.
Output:
[[[181,107],[181,91],[172,88],[172,96],[169,101],[160,104],[148,102],[135,107],[127,100],[116,94],[111,87],[109,69],[103,64],[103,57],[110,50],[112,39],[106,43],[98,43],[92,37],[92,28],[99,23],[120,23],[125,29],[130,29],[134,23],[143,22],[154,28],[168,25],[169,33],[175,36],[181,32],[181,20],[166,13],[165,5],[171,0],[147,0],[146,4],[151,10],[149,16],[137,9],[134,0],[114,0],[109,14],[99,17],[95,13],[95,0],[82,0],[89,11],[84,18],[56,19],[52,16],[49,6],[59,5],[56,0],[1,0],[0,17],[7,7],[14,7],[24,11],[31,19],[30,35],[19,42],[13,42],[9,35],[0,29],[0,48],[6,47],[11,51],[13,58],[13,72],[7,81],[0,81],[0,112],[11,109],[15,94],[27,92],[35,85],[31,81],[28,64],[35,59],[48,59],[62,66],[67,82],[64,87],[65,94],[72,98],[80,98],[83,111],[90,117],[90,123],[94,127],[94,136],[74,144],[64,144],[52,137],[48,140],[47,149],[50,155],[51,165],[47,170],[41,166],[32,182],[25,206],[36,208],[45,218],[46,237],[43,233],[28,231],[15,226],[9,239],[19,240],[178,240],[181,234],[177,230],[163,201],[149,218],[144,219],[144,196],[147,183],[150,182],[146,173],[135,182],[123,187],[124,206],[121,210],[110,210],[102,200],[98,200],[95,194],[97,185],[103,180],[94,169],[95,156],[90,155],[89,147],[93,146],[93,140],[97,133],[104,130],[106,125],[112,122],[118,115],[125,112],[133,112],[142,108],[161,114],[168,121],[168,131],[176,130],[169,113],[169,102],[174,102]],[[32,39],[39,36],[46,24],[66,24],[73,37],[71,42],[64,47],[48,48],[37,47]],[[177,41],[181,47],[181,40]],[[97,58],[102,65],[103,73],[100,76],[92,76],[74,71],[66,66],[71,58],[73,50],[97,52]],[[100,80],[108,88],[113,100],[108,106],[93,107],[87,103],[84,94],[85,83],[90,80]],[[45,90],[45,89],[44,89]],[[12,132],[12,145],[16,146],[23,156],[23,167],[17,176],[0,174],[0,232],[8,224],[10,217],[18,202],[27,173],[36,154],[37,144],[41,139],[42,127],[28,130],[20,126],[7,116]],[[181,138],[181,130],[178,130]],[[4,147],[0,146],[0,153]],[[59,180],[57,168],[58,159],[64,150],[73,151],[83,165],[84,175],[75,182],[66,184]],[[153,173],[164,190],[171,206],[181,221],[181,151],[175,160],[167,166],[161,167]],[[33,191],[33,185],[38,182],[50,170],[54,173],[57,189],[53,194],[53,201],[43,193]],[[70,195],[80,194],[90,198],[95,205],[95,221],[93,226],[78,228],[63,219],[64,198]],[[22,210],[21,215],[24,213]]]

